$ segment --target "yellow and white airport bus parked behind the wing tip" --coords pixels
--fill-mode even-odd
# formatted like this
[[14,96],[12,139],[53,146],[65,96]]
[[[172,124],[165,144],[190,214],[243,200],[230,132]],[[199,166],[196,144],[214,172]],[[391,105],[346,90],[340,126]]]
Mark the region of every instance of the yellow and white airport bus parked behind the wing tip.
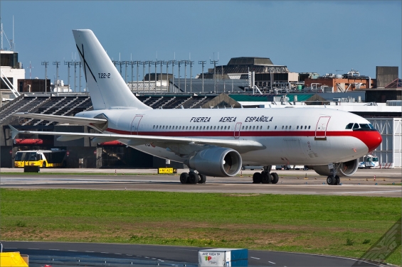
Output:
[[16,168],[25,166],[36,166],[39,168],[65,167],[65,150],[48,151],[18,151],[14,160]]

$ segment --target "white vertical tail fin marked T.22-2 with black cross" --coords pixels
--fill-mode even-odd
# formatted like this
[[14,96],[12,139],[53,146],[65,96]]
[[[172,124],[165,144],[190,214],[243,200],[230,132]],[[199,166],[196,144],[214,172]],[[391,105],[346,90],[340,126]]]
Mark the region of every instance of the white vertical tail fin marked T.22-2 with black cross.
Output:
[[73,30],[73,35],[94,109],[152,109],[132,94],[91,30]]

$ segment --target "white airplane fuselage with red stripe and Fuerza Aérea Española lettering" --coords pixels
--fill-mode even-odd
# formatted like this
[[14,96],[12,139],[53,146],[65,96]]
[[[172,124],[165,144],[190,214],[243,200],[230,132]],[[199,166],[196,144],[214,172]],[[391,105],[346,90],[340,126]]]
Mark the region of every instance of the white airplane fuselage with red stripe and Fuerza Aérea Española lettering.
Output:
[[[370,123],[345,111],[324,108],[103,109],[76,116],[92,118],[98,114],[107,117],[104,133],[253,140],[265,146],[261,150],[240,152],[243,165],[345,162],[374,150],[370,140],[373,134],[379,135],[372,129],[345,129],[349,123]],[[128,140],[120,141],[129,145]],[[179,162],[187,158],[160,143],[132,147]]]

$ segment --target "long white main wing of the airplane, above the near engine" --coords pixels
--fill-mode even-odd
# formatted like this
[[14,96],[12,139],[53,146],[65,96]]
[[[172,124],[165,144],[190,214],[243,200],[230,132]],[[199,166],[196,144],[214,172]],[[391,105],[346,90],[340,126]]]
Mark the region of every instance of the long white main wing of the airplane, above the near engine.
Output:
[[11,138],[15,138],[18,133],[23,134],[41,134],[50,136],[60,136],[59,141],[69,141],[83,137],[95,137],[95,141],[114,141],[120,140],[127,143],[128,146],[139,146],[146,143],[164,143],[167,147],[169,144],[177,145],[210,145],[221,146],[225,148],[233,148],[241,152],[256,151],[265,149],[263,144],[252,140],[225,140],[213,138],[189,138],[189,137],[173,137],[173,136],[134,136],[129,134],[117,133],[68,133],[56,131],[18,131],[13,126],[9,125],[11,129]]

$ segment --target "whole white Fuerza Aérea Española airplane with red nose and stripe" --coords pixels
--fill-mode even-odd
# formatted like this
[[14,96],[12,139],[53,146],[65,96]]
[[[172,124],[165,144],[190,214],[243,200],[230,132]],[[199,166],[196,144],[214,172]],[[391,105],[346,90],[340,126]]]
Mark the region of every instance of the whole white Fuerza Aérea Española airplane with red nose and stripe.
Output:
[[57,135],[59,141],[93,137],[118,140],[139,151],[189,166],[182,183],[203,183],[206,175],[236,175],[243,165],[263,165],[253,182],[277,183],[272,165],[309,165],[329,185],[353,175],[358,158],[382,141],[369,121],[345,111],[285,109],[152,109],[129,90],[90,30],[73,30],[92,111],[75,116],[16,113],[14,116],[88,125],[100,133],[18,131]]

